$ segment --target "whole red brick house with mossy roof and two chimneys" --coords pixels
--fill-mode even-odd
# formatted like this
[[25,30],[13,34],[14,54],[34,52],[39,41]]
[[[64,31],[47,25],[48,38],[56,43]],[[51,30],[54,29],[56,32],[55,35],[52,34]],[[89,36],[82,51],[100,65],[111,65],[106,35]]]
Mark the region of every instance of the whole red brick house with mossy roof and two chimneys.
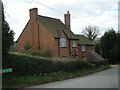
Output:
[[53,58],[84,58],[94,45],[83,35],[75,35],[70,29],[69,11],[60,19],[38,15],[37,8],[29,10],[30,19],[17,40],[18,52],[23,52],[26,42],[32,50],[50,50]]

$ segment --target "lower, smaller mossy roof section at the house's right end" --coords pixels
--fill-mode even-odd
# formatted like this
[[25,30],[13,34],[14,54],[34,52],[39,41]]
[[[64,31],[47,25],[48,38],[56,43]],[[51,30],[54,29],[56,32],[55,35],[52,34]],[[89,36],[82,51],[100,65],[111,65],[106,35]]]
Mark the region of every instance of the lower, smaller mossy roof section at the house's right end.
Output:
[[89,39],[87,39],[84,35],[76,35],[76,38],[79,39],[79,44],[93,45],[93,43]]

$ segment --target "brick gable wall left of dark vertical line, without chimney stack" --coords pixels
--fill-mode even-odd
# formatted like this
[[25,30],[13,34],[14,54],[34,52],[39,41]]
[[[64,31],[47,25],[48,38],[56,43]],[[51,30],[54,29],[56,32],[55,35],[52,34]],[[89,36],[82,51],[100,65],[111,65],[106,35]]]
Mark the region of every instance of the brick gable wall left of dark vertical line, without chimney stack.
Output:
[[30,42],[30,45],[33,50],[38,49],[38,34],[37,34],[37,26],[33,24],[30,20],[28,21],[26,27],[24,28],[21,36],[18,39],[18,52],[22,52],[27,42]]

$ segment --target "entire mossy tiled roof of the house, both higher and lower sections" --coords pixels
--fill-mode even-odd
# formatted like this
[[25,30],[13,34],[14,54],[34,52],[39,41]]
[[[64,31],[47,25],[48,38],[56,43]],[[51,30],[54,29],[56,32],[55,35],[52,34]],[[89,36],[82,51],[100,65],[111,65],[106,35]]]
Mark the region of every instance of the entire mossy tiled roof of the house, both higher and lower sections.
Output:
[[60,19],[41,15],[38,15],[38,19],[55,38],[59,38],[60,32],[63,31],[69,39],[79,39],[79,44],[93,45],[84,35],[75,35]]

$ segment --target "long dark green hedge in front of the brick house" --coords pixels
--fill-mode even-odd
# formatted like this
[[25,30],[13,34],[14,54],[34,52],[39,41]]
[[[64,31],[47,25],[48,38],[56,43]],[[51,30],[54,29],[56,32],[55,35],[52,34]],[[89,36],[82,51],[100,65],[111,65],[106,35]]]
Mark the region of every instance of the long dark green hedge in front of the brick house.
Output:
[[12,73],[3,76],[34,76],[58,71],[73,72],[94,68],[94,65],[82,60],[53,61],[50,58],[8,54],[3,60],[3,68],[12,68]]

